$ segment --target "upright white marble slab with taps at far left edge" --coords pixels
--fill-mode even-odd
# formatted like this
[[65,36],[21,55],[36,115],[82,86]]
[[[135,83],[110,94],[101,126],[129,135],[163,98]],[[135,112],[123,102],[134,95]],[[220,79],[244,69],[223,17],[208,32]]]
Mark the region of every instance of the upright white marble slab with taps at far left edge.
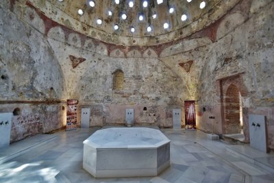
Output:
[[0,113],[0,148],[10,145],[12,113]]

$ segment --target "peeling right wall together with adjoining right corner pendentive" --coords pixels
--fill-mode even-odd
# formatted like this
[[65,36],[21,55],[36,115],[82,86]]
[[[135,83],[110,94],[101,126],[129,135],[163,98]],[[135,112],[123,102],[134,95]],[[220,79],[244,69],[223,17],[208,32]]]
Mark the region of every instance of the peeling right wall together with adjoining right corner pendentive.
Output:
[[[200,130],[224,133],[217,83],[241,73],[240,86],[247,90],[247,95],[241,97],[245,141],[249,142],[248,115],[262,114],[267,120],[269,148],[274,149],[273,12],[273,1],[241,1],[219,22],[197,33],[201,38],[182,40],[161,52],[160,60],[183,79],[188,99],[196,101]],[[203,36],[207,29],[216,35],[213,42]],[[190,60],[194,60],[190,71],[179,65]]]

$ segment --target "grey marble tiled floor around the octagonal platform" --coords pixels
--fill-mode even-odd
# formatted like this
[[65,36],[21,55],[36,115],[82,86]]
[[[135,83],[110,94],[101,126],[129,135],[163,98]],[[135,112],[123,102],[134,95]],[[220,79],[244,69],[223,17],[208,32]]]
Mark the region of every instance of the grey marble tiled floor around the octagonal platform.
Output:
[[[249,151],[262,162],[272,162],[273,154],[252,154],[245,146],[229,149],[226,143],[207,139],[203,132],[173,129],[161,130],[171,140],[171,166],[160,175],[96,179],[82,168],[82,142],[95,130],[57,132],[50,141],[0,162],[0,182],[274,182],[272,169],[253,163],[236,150]],[[14,146],[27,147],[27,139]]]

